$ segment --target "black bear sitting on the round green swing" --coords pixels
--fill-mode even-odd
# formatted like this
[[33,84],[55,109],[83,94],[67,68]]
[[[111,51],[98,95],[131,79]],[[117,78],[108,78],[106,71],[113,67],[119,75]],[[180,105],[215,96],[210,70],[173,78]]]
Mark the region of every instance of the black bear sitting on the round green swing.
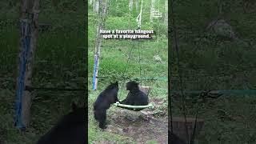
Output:
[[149,103],[148,96],[139,90],[138,82],[130,81],[126,83],[126,90],[130,90],[127,98],[124,99],[122,104],[133,105],[133,106],[146,106]]

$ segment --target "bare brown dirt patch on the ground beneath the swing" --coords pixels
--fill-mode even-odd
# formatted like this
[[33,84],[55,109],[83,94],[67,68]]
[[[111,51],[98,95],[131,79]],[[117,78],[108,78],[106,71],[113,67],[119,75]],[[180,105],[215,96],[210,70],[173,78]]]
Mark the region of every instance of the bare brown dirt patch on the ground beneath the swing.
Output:
[[[154,100],[155,106],[161,103]],[[168,118],[154,118],[151,110],[114,110],[108,121],[107,131],[130,137],[135,143],[168,143]]]

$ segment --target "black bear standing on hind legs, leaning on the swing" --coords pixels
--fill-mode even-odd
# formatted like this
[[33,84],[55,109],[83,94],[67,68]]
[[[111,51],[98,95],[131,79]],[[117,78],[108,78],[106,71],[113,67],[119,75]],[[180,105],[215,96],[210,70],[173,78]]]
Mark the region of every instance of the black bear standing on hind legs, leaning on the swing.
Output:
[[110,108],[111,104],[118,102],[118,90],[118,82],[111,83],[94,102],[94,118],[102,129],[106,129],[106,110]]

